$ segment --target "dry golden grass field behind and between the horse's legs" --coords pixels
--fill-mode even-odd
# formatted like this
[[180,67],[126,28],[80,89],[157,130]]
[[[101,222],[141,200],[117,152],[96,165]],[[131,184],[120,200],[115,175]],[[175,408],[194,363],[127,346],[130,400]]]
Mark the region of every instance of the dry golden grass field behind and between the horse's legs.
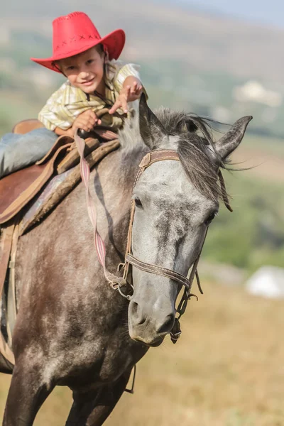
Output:
[[[124,394],[107,426],[284,425],[284,302],[204,285],[182,319],[182,337],[138,364],[136,391]],[[9,386],[1,376],[0,410]],[[64,425],[70,392],[58,388],[35,426]]]

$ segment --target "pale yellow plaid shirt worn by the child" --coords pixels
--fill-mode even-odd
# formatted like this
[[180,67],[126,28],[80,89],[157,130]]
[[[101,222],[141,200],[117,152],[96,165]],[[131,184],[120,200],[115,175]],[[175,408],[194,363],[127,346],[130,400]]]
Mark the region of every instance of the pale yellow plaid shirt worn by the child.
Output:
[[[38,119],[46,129],[70,129],[76,117],[87,109],[97,112],[103,108],[111,107],[121,92],[126,77],[132,75],[140,80],[137,65],[123,65],[120,61],[111,60],[106,64],[104,75],[106,91],[105,97],[100,98],[95,94],[86,94],[78,87],[72,86],[69,80],[54,92],[38,114]],[[124,111],[118,109],[118,114],[105,114],[102,116],[102,126],[119,129],[123,124]]]

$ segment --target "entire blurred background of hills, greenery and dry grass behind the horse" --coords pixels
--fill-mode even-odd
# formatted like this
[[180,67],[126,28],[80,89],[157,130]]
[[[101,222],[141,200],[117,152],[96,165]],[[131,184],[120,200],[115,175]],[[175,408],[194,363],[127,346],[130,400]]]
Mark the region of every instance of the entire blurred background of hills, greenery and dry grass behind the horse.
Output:
[[[107,421],[123,425],[284,425],[284,4],[280,0],[12,0],[0,17],[0,133],[36,117],[64,81],[31,62],[52,53],[52,21],[84,11],[101,35],[126,31],[122,60],[141,65],[151,108],[227,124],[253,115],[224,173],[222,207],[202,253],[204,295],[138,365],[136,393]],[[224,128],[226,131],[228,128]],[[9,378],[0,379],[3,413]],[[65,424],[57,389],[35,425]]]

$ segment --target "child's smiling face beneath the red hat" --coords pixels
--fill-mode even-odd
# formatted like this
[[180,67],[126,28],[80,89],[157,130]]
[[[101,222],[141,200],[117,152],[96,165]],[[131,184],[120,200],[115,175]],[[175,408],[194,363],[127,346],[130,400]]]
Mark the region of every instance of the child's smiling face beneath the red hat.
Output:
[[100,54],[95,47],[62,59],[58,65],[72,86],[79,87],[85,93],[91,94],[97,90],[104,94],[104,53]]

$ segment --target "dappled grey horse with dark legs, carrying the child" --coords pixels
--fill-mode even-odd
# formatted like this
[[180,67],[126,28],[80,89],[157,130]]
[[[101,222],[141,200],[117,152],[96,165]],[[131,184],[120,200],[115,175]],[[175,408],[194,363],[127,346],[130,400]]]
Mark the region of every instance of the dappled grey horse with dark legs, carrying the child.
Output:
[[[251,118],[239,119],[213,141],[204,119],[165,108],[154,114],[141,97],[138,116],[126,120],[119,133],[120,148],[92,170],[89,185],[110,273],[117,274],[117,264],[125,261],[131,200],[135,204],[131,252],[156,265],[157,273],[132,266],[132,288],[115,291],[105,278],[82,183],[21,236],[16,362],[4,426],[33,425],[55,386],[72,390],[67,426],[104,423],[133,366],[173,330],[182,288],[176,276],[186,277],[200,255],[224,196],[219,169],[226,168]],[[178,158],[156,161],[133,187],[141,160],[160,150],[175,151]]]

